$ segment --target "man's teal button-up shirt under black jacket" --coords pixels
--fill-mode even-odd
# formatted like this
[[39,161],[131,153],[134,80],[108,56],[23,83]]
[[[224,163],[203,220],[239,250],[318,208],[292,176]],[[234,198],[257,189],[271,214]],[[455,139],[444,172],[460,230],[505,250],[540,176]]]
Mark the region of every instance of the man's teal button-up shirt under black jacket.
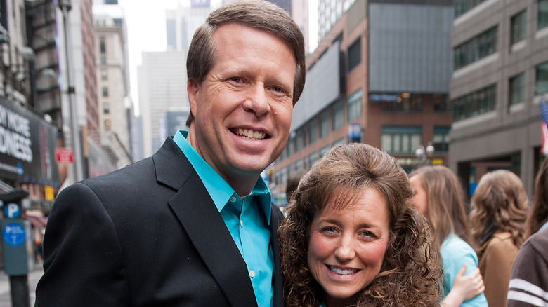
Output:
[[179,130],[174,136],[174,141],[202,179],[240,250],[247,264],[257,304],[259,307],[272,306],[274,256],[268,230],[272,194],[266,182],[259,176],[252,193],[240,198],[188,143],[187,135],[188,131]]

